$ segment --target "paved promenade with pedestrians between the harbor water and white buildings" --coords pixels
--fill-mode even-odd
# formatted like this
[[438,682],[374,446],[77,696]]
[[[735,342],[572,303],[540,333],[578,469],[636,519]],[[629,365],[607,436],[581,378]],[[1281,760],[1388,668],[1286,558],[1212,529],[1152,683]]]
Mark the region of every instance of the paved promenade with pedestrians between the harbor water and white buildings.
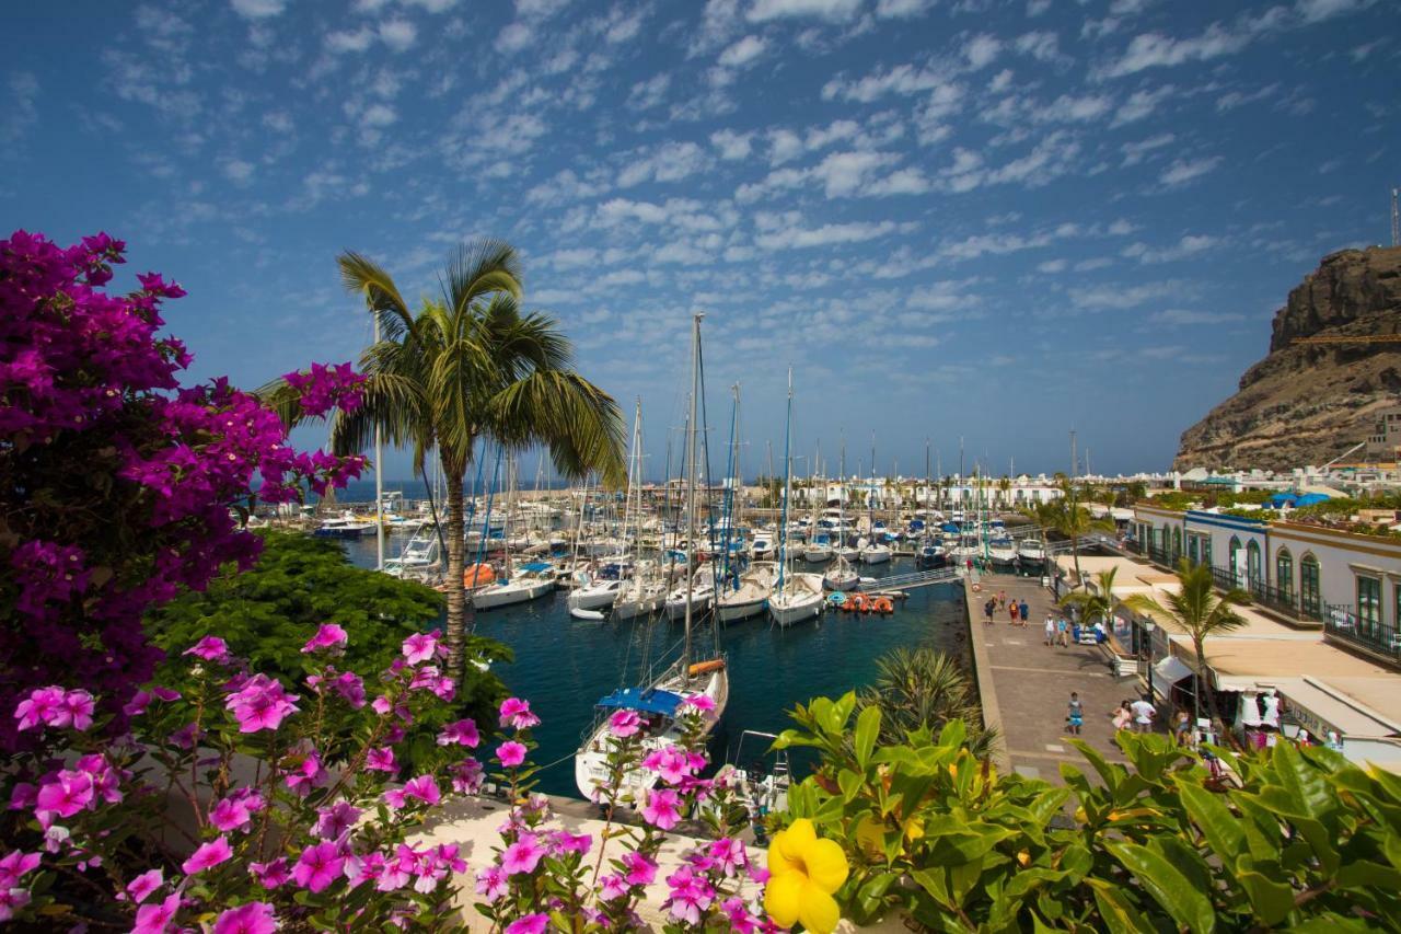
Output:
[[[1091,771],[1089,763],[1066,742],[1066,705],[1070,691],[1077,691],[1084,707],[1084,726],[1080,739],[1097,749],[1110,762],[1124,762],[1114,745],[1111,714],[1119,701],[1138,698],[1142,684],[1138,677],[1115,679],[1108,659],[1097,645],[1045,645],[1045,617],[1055,610],[1051,592],[1040,578],[1019,578],[1006,574],[985,574],[979,593],[969,593],[972,632],[985,651],[979,652],[979,679],[991,676],[992,704],[1000,717],[1000,729],[1012,767],[1028,777],[1040,777],[1061,784],[1061,763],[1070,763],[1082,771]],[[989,596],[1006,590],[1026,600],[1031,618],[1026,627],[1010,625],[1007,610],[998,610],[993,625],[984,623],[984,603]],[[982,686],[986,691],[988,684]],[[985,703],[985,707],[989,704]],[[1161,724],[1157,725],[1161,729]]]

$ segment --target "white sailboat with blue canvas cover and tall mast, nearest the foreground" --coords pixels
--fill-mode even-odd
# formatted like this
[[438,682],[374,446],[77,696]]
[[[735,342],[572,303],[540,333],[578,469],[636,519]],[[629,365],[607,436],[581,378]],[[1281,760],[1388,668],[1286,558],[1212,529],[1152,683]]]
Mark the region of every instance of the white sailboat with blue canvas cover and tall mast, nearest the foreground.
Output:
[[[686,436],[686,532],[688,539],[696,539],[696,397],[700,394],[700,320],[692,321],[691,337],[691,418]],[[686,575],[688,588],[693,576]],[[597,704],[598,715],[584,736],[583,745],[574,753],[574,784],[579,792],[590,801],[600,801],[601,788],[609,780],[608,753],[616,739],[609,731],[609,718],[615,711],[630,710],[640,715],[643,739],[647,752],[677,746],[681,742],[681,725],[677,722],[682,707],[693,698],[706,698],[709,711],[703,714],[705,731],[709,732],[724,714],[730,700],[730,673],[724,656],[719,652],[719,630],[712,625],[715,655],[702,662],[693,661],[691,638],[692,604],[685,603],[685,641],[681,659],[667,668],[658,677],[646,679],[642,687],[619,687],[602,697]],[[657,784],[657,773],[635,766],[622,777],[619,799],[642,805],[643,792]]]

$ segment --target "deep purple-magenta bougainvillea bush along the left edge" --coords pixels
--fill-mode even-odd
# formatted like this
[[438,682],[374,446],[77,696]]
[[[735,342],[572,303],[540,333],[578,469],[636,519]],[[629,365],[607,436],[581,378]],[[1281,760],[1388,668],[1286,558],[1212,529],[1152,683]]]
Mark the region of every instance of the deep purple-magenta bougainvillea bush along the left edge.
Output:
[[[123,251],[106,234],[69,248],[22,230],[0,240],[0,707],[78,683],[116,728],[161,656],[142,614],[256,557],[235,515],[255,477],[283,502],[364,463],[294,452],[277,414],[227,380],[182,387],[191,355],[160,335],[160,307],[185,292],[147,273],[106,293]],[[287,379],[308,412],[360,401],[347,366]],[[4,721],[11,749],[21,738]]]

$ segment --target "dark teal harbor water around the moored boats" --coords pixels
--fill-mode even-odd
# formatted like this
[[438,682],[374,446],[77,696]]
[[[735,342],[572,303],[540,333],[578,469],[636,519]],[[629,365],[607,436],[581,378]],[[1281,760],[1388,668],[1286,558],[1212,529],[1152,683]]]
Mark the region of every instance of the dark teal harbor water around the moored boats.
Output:
[[[343,544],[356,565],[374,567],[373,537]],[[862,574],[881,578],[913,569],[911,558],[895,558],[862,568]],[[593,722],[594,701],[615,687],[636,683],[644,655],[651,661],[678,658],[684,627],[665,620],[576,620],[565,599],[559,590],[531,603],[478,613],[476,631],[516,652],[516,662],[500,666],[497,675],[511,693],[530,700],[542,721],[535,729],[535,762],[549,767],[539,776],[541,791],[579,797],[573,752]],[[824,613],[817,621],[786,630],[771,625],[764,616],[723,627],[720,649],[729,661],[730,703],[713,736],[712,759],[734,757],[745,729],[778,733],[792,726],[787,711],[794,704],[869,684],[876,676],[876,659],[892,648],[927,645],[965,658],[961,600],[961,586],[937,585],[911,590],[891,616]],[[696,656],[706,658],[712,648],[709,623],[695,631],[695,644]],[[759,753],[761,746],[745,743],[747,762]]]

